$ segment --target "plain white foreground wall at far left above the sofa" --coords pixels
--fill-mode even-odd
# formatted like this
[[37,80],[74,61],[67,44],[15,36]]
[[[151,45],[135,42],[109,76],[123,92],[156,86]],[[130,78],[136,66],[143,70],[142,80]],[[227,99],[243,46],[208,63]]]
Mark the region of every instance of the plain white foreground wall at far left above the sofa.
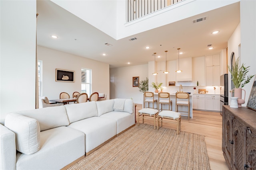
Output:
[[0,1],[0,117],[34,109],[36,82],[36,1]]

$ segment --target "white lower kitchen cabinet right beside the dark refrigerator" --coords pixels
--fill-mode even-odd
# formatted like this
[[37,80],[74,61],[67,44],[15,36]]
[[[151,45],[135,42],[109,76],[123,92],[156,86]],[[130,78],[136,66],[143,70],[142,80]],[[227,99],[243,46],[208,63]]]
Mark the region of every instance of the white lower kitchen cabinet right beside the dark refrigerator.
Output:
[[206,94],[205,103],[206,103],[206,110],[220,111],[220,95]]

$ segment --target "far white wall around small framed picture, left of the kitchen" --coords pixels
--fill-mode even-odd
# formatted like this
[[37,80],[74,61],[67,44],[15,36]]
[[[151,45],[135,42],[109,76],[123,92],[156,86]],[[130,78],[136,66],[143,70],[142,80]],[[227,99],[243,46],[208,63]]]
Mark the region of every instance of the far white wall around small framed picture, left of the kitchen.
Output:
[[138,87],[132,87],[132,77],[146,80],[148,64],[110,69],[110,98],[133,98],[134,103],[142,104],[142,92]]

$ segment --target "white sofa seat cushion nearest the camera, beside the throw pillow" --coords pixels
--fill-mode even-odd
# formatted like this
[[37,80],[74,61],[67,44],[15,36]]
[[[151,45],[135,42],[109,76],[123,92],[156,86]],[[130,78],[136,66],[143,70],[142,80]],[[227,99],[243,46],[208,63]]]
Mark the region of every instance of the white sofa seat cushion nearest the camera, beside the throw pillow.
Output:
[[60,170],[84,156],[84,138],[84,133],[65,126],[42,131],[41,149],[32,155],[18,152],[16,169]]

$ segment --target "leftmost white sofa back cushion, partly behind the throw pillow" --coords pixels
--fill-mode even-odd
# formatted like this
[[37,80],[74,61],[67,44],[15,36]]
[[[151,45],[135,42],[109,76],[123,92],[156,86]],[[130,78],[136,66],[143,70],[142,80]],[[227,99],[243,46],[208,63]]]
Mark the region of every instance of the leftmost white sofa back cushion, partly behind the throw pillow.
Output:
[[39,122],[41,131],[69,125],[65,106],[16,111],[15,113],[36,119]]

